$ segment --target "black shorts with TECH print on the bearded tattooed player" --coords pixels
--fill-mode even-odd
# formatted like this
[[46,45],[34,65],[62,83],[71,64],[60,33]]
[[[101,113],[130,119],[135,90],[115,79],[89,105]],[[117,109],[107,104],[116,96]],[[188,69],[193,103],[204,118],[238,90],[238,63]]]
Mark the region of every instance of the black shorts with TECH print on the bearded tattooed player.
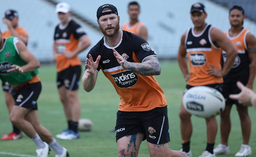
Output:
[[143,140],[153,144],[170,142],[167,106],[143,112],[116,113],[116,141],[124,136],[141,132]]

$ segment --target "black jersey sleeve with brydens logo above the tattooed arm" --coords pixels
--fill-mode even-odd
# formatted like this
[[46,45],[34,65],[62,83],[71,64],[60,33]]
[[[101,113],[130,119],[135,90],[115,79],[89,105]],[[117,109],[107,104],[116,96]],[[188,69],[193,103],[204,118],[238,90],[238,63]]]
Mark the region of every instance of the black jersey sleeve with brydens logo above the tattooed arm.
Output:
[[133,52],[136,54],[140,62],[150,56],[157,56],[155,52],[151,49],[151,46],[146,42],[146,40],[140,36],[134,35],[132,40]]

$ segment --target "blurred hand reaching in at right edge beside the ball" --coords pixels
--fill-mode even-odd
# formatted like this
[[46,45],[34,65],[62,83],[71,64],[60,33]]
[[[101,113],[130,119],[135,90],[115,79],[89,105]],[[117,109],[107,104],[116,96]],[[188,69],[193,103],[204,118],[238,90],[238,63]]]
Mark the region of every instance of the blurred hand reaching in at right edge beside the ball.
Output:
[[230,99],[236,99],[239,103],[244,105],[251,105],[251,99],[254,95],[254,92],[245,87],[240,81],[236,82],[237,87],[241,90],[239,94],[230,94]]

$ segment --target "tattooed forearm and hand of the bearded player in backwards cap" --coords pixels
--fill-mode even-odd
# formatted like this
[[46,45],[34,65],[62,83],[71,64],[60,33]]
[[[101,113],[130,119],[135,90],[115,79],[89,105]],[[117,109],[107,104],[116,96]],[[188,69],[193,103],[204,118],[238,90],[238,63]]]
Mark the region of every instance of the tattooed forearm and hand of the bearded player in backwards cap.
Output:
[[124,69],[145,76],[161,74],[161,67],[156,56],[148,57],[142,63],[134,63],[127,62],[115,49],[113,51],[117,61]]

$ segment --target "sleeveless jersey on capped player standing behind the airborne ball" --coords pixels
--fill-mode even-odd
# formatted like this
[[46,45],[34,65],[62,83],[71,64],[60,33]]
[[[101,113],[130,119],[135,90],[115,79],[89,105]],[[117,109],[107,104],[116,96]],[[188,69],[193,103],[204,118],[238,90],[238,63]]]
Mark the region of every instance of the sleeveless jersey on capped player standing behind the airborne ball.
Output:
[[221,68],[221,49],[216,47],[210,37],[212,25],[206,24],[200,34],[194,33],[194,27],[187,30],[185,48],[188,55],[191,78],[187,84],[191,86],[222,83],[222,77],[208,75],[206,69]]

